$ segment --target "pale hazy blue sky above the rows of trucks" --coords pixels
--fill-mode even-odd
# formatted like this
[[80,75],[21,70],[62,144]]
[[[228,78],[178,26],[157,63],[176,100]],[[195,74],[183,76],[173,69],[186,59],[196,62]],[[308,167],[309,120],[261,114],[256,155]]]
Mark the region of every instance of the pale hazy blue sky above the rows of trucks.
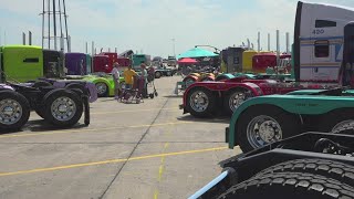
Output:
[[[53,0],[50,0],[51,3]],[[59,0],[55,0],[56,2]],[[62,2],[62,0],[60,0]],[[48,2],[48,0],[45,0]],[[280,31],[281,50],[285,33],[293,40],[296,0],[66,0],[67,31],[72,52],[88,53],[94,41],[97,52],[134,50],[152,56],[179,54],[195,45],[220,50],[247,43],[275,50]],[[354,8],[354,0],[312,0]],[[1,0],[0,45],[21,44],[22,32],[32,31],[32,43],[42,45],[42,0]],[[48,7],[48,4],[45,4]],[[45,8],[46,9],[46,8]],[[56,18],[59,20],[59,18]],[[58,27],[58,32],[60,29]],[[48,21],[45,19],[45,34]],[[53,27],[51,27],[53,35]],[[48,42],[44,43],[48,49]],[[51,43],[53,49],[53,42]],[[212,50],[206,48],[207,50]]]

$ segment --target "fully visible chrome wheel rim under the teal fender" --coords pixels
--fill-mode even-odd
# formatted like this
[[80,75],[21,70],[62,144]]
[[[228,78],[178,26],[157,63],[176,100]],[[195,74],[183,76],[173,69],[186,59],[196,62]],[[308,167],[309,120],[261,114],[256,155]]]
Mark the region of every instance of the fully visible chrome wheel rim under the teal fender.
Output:
[[248,124],[247,139],[253,148],[259,148],[282,139],[282,129],[274,118],[260,115]]

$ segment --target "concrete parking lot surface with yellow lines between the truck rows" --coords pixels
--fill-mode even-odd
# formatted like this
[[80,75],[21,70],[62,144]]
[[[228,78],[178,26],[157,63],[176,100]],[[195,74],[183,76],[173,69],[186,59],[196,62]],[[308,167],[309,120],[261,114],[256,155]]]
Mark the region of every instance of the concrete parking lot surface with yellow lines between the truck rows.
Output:
[[228,118],[183,115],[178,80],[156,80],[158,96],[140,104],[100,98],[90,126],[54,129],[32,113],[22,132],[0,135],[0,198],[189,197],[240,150],[225,143]]

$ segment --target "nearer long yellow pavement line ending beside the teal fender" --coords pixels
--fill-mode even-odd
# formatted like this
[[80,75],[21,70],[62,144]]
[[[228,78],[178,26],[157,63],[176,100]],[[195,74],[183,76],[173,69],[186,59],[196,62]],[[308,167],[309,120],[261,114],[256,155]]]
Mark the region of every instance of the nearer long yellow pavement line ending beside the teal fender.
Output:
[[64,169],[71,169],[71,168],[98,166],[98,165],[107,165],[107,164],[133,161],[133,160],[143,160],[143,159],[150,159],[150,158],[158,158],[158,157],[179,156],[179,155],[187,155],[187,154],[200,154],[200,153],[207,153],[207,151],[225,150],[228,147],[205,148],[205,149],[197,149],[197,150],[185,150],[185,151],[176,151],[176,153],[165,153],[165,154],[138,156],[138,157],[132,157],[129,159],[110,159],[110,160],[103,160],[103,161],[73,164],[73,165],[65,165],[65,166],[58,166],[58,167],[19,170],[19,171],[11,171],[11,172],[0,172],[0,177],[34,174],[34,172],[44,172],[44,171],[54,171],[54,170],[64,170]]

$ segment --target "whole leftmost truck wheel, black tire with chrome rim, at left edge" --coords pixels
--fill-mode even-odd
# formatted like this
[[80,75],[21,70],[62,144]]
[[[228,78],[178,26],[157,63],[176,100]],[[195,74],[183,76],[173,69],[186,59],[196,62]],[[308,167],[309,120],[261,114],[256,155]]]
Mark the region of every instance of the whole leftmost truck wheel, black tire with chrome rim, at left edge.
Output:
[[18,130],[30,118],[28,100],[13,91],[0,92],[0,129]]

